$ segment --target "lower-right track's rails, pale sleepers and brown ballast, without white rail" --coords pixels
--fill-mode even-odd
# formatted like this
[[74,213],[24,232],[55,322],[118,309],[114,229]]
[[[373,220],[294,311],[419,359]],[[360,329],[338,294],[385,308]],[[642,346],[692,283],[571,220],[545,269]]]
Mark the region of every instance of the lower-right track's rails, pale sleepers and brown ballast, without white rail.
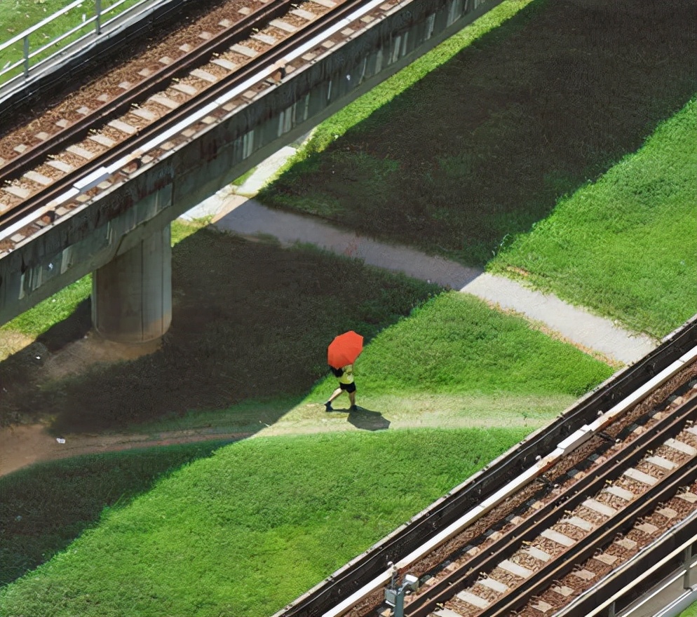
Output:
[[[554,477],[548,494],[508,519],[513,529],[498,531],[486,549],[470,549],[441,565],[405,614],[478,617],[560,609],[695,509],[696,419],[694,385],[665,410],[609,427],[604,442],[567,471],[570,481]],[[617,432],[626,438],[613,439]]]

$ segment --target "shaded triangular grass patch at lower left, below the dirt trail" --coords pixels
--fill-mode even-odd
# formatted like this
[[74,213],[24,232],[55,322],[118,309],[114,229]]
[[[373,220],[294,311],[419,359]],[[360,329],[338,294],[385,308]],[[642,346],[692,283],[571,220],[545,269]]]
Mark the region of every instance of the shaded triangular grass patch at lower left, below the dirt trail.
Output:
[[47,562],[111,508],[222,446],[177,445],[37,463],[0,477],[0,585]]

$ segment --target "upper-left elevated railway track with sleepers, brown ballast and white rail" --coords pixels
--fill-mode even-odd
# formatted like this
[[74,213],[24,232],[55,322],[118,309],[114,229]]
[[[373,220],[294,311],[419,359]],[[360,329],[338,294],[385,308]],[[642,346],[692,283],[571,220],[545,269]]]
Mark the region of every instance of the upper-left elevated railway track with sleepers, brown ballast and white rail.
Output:
[[217,34],[191,30],[196,40],[179,43],[178,57],[149,60],[137,83],[90,92],[98,104],[46,114],[0,140],[0,255],[391,8],[375,0],[237,5],[240,19],[222,20]]

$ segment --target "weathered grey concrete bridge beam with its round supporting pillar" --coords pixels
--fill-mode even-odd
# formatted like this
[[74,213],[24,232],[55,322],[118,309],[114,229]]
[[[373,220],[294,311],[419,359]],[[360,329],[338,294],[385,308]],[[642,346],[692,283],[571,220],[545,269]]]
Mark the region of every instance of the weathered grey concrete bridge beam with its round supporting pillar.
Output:
[[[169,224],[501,0],[402,1],[346,42],[0,252],[0,324],[93,277],[93,323],[114,341],[160,337],[171,318]],[[100,185],[101,186],[101,185]],[[79,201],[82,196],[75,199]],[[66,204],[67,205],[67,204]]]

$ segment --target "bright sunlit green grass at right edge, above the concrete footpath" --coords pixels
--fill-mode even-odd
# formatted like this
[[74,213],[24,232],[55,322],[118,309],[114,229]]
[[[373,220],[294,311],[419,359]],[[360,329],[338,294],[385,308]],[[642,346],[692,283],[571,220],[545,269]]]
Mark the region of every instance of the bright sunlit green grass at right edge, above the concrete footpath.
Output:
[[697,100],[489,264],[663,337],[697,313]]

